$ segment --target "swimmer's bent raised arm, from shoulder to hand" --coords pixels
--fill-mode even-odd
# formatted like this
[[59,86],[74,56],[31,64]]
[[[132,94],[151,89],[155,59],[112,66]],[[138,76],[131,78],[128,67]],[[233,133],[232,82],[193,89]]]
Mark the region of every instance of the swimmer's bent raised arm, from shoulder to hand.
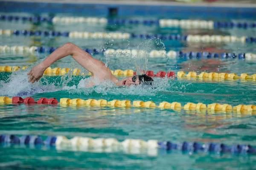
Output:
[[73,43],[67,42],[63,46],[56,49],[42,63],[34,66],[27,75],[30,76],[29,82],[38,81],[47,69],[55,61],[71,55],[81,66],[92,73],[92,76],[99,74],[104,75],[106,72],[105,64],[96,58],[93,58],[89,53],[85,52]]

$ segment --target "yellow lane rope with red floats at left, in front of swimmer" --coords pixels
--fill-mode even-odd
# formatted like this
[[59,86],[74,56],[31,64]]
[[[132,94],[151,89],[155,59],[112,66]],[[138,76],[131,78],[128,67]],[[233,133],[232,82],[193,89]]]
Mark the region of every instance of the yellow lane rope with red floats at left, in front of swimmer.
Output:
[[218,103],[212,103],[212,104],[203,104],[203,103],[192,103],[188,102],[184,106],[181,106],[179,102],[161,102],[158,106],[153,101],[129,101],[129,100],[112,100],[107,101],[105,99],[87,99],[83,100],[80,98],[61,98],[58,102],[56,98],[40,98],[38,101],[35,101],[32,97],[26,97],[21,98],[20,96],[14,96],[12,98],[9,98],[7,96],[0,96],[0,103],[3,104],[61,104],[61,106],[66,105],[78,105],[78,106],[98,106],[98,107],[139,107],[139,108],[160,108],[160,109],[174,109],[174,110],[195,110],[198,112],[208,110],[209,112],[254,112],[256,111],[256,106],[253,104],[245,105],[245,104],[239,104],[237,106],[232,107],[229,104],[218,104]]

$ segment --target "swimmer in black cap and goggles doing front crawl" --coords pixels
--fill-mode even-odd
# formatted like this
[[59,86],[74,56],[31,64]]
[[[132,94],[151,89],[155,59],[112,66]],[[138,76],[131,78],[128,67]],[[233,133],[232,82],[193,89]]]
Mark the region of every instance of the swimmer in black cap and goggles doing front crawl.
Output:
[[[148,75],[134,75],[131,77],[118,80],[114,75],[112,75],[111,70],[105,66],[102,61],[93,58],[89,53],[85,52],[73,43],[67,42],[63,46],[56,49],[52,54],[50,54],[43,62],[34,66],[29,72],[29,82],[35,83],[43,75],[44,70],[47,69],[55,61],[71,55],[81,66],[92,73],[91,78],[99,79],[100,82],[105,80],[111,80],[117,86],[131,86],[139,84],[150,84],[153,79]],[[93,81],[90,81],[87,86],[94,86]]]

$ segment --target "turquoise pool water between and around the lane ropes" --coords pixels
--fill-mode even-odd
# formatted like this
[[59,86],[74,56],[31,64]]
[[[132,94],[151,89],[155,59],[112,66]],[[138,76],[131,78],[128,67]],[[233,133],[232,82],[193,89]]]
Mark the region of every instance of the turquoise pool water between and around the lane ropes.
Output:
[[[20,14],[22,15],[22,14]],[[23,14],[25,15],[25,14]],[[29,15],[29,14],[26,14]],[[123,31],[133,33],[178,33],[178,34],[220,34],[235,36],[254,36],[253,29],[230,30],[182,30],[159,29],[155,26],[88,26],[49,25],[0,22],[1,29],[34,29],[56,31]],[[159,40],[93,40],[71,39],[66,37],[0,37],[0,45],[26,46],[61,46],[71,41],[83,48],[114,49],[152,49],[212,52],[255,52],[254,44],[242,43],[194,43]],[[164,44],[164,45],[163,45]],[[40,61],[47,54],[15,54],[0,52],[0,65],[26,66]],[[108,62],[110,69],[135,69],[137,59],[129,56],[93,56]],[[236,72],[237,74],[256,73],[255,61],[228,60],[170,60],[166,58],[146,58],[148,70],[157,72],[183,70],[185,72]],[[145,60],[146,61],[146,60]],[[71,57],[57,61],[52,67],[76,68],[78,63]],[[31,68],[31,67],[30,67]],[[52,76],[43,77],[35,84],[28,84],[26,73],[29,69],[12,74],[0,72],[0,96],[20,95],[32,96],[36,100],[41,97],[60,98],[94,98],[107,101],[143,100],[256,104],[256,82],[252,81],[201,81],[201,80],[168,80],[154,78],[154,88],[143,86],[117,87],[105,82],[102,85],[84,88],[86,76]],[[122,78],[122,77],[119,77]],[[64,135],[68,138],[86,136],[92,138],[126,138],[157,139],[160,141],[200,141],[219,142],[224,144],[251,144],[256,146],[256,112],[196,112],[175,111],[171,109],[146,108],[99,108],[77,106],[50,105],[0,105],[0,134],[34,134]],[[251,170],[256,169],[256,156],[220,153],[186,153],[181,151],[166,152],[157,150],[79,150],[79,148],[55,148],[45,146],[2,145],[0,147],[0,168],[3,169],[193,169],[193,170]]]

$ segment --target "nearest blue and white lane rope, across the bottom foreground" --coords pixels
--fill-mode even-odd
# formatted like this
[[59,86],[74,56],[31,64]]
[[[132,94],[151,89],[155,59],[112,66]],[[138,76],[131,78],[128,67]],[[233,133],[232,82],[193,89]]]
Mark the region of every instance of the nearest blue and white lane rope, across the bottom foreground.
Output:
[[64,136],[48,136],[46,140],[38,135],[0,135],[0,143],[6,144],[27,144],[27,145],[75,145],[75,146],[87,146],[87,147],[144,147],[148,149],[158,148],[162,150],[181,150],[188,152],[217,152],[217,153],[233,153],[233,154],[256,154],[256,148],[250,144],[233,144],[231,146],[223,143],[206,143],[200,142],[178,142],[173,143],[171,141],[157,141],[148,140],[143,141],[140,139],[126,139],[125,141],[119,142],[115,138],[85,138],[85,137],[74,137],[67,139]]

